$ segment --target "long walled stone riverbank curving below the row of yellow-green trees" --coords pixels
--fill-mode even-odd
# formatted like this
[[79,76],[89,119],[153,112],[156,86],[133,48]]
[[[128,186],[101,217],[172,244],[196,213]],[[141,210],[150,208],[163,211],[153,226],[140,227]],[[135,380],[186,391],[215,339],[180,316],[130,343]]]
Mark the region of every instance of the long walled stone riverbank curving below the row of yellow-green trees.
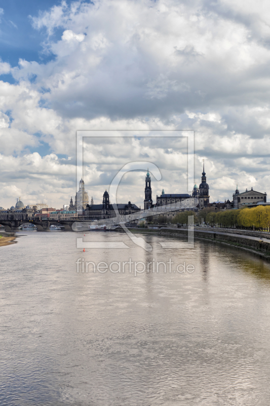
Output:
[[[148,229],[148,228],[130,228],[132,232],[139,233],[156,233],[169,236],[187,236],[187,229],[179,228],[160,228],[160,229]],[[194,233],[194,238],[201,240],[212,241],[213,243],[220,243],[242,250],[252,252],[253,254],[260,255],[261,257],[270,260],[270,243],[262,241],[256,238],[244,238],[244,235],[229,235],[224,232],[203,231],[196,230],[191,231]]]

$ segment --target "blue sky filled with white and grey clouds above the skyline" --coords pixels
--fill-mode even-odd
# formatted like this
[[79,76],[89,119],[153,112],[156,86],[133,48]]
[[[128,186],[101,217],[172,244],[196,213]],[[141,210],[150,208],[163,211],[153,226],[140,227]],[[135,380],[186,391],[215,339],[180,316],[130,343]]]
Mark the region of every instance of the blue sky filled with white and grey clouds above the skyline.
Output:
[[[21,196],[59,208],[74,196],[75,137],[84,129],[195,130],[196,181],[205,159],[211,200],[231,199],[236,183],[270,193],[269,2],[10,0],[0,7],[0,206]],[[99,203],[120,146],[87,147],[86,189]],[[118,162],[155,155],[163,180],[152,183],[153,196],[163,187],[185,192],[178,147],[123,143]],[[143,189],[144,174],[129,174],[120,200],[142,205]]]

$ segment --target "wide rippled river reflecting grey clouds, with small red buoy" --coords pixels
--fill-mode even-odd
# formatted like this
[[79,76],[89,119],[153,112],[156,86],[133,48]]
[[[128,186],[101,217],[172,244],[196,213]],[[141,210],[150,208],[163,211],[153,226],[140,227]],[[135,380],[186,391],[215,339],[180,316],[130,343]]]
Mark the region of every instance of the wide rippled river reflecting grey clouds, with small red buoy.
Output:
[[[2,406],[270,404],[269,263],[160,235],[151,252],[116,232],[18,235],[0,249]],[[82,252],[78,237],[131,248]]]

